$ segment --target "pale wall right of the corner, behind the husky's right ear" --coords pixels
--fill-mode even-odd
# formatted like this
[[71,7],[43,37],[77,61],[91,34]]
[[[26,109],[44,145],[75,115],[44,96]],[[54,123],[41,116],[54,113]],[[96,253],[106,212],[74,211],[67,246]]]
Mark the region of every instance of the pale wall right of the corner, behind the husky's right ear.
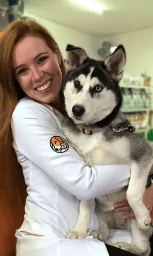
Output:
[[148,75],[151,75],[153,84],[153,27],[99,38],[99,47],[104,40],[109,40],[116,46],[122,44],[125,47],[126,73],[140,75],[141,72],[146,71]]

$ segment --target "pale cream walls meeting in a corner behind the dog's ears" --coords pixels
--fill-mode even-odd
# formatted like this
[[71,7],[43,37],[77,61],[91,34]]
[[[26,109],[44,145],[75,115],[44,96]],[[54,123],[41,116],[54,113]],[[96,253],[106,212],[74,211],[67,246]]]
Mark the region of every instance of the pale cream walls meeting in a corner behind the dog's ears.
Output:
[[77,30],[50,22],[44,18],[24,13],[44,26],[53,35],[60,47],[62,55],[66,58],[66,46],[72,44],[84,48],[91,58],[100,58],[96,50],[101,47],[104,40],[109,40],[113,45],[123,44],[126,50],[127,62],[125,72],[140,75],[146,71],[152,77],[153,84],[153,27],[119,34],[111,37],[96,38]]

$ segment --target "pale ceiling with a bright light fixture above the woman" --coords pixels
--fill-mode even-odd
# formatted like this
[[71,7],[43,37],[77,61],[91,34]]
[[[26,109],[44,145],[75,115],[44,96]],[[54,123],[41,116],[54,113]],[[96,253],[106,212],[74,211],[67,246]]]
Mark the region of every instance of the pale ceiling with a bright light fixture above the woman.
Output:
[[97,37],[153,26],[152,0],[97,1],[107,7],[101,15],[70,0],[24,0],[24,11]]

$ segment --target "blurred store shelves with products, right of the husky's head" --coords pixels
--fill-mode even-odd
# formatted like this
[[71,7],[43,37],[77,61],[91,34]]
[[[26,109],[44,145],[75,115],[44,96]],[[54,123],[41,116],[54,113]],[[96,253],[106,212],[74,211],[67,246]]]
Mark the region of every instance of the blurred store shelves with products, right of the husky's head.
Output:
[[150,81],[151,77],[144,72],[141,76],[124,74],[119,83],[123,96],[121,110],[135,127],[135,132],[148,140],[153,134],[153,129],[150,130],[153,89]]

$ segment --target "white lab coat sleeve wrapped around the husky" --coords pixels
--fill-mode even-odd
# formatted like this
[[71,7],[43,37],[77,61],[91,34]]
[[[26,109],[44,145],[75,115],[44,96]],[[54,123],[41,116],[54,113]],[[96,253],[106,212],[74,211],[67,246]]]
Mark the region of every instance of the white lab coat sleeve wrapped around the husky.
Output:
[[13,138],[21,154],[81,200],[113,193],[129,183],[131,172],[127,165],[90,167],[70,145],[65,152],[56,152],[50,139],[66,138],[57,128],[54,114],[50,117],[44,106],[37,105],[21,102],[12,116]]

